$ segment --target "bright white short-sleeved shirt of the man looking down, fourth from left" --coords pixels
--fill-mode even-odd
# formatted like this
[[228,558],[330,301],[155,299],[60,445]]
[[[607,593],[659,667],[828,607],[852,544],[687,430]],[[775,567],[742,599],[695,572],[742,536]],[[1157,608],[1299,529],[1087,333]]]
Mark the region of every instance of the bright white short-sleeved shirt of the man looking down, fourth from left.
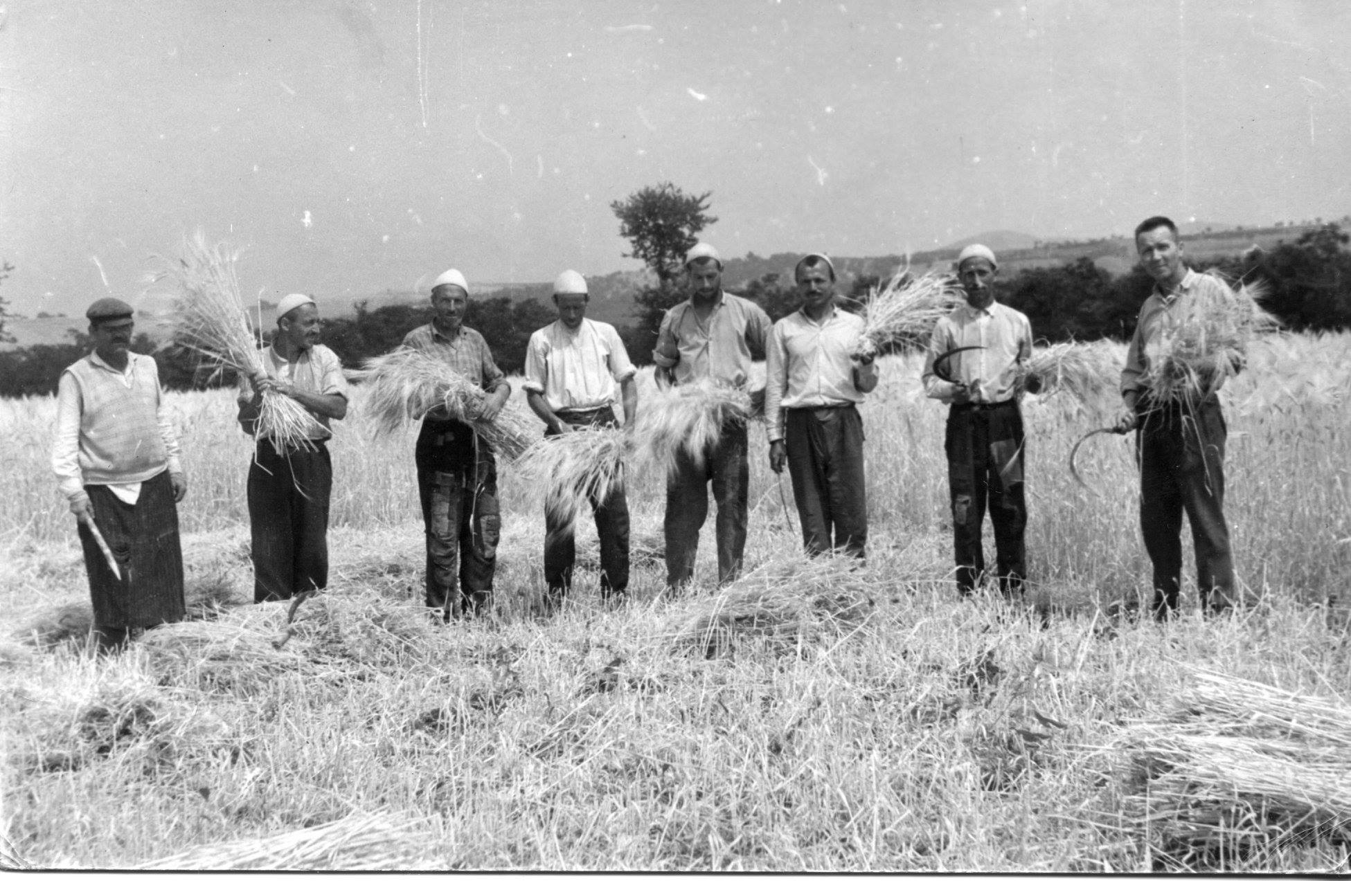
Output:
[[584,318],[577,330],[561,320],[530,335],[527,392],[539,392],[555,413],[615,403],[619,384],[638,373],[612,324]]

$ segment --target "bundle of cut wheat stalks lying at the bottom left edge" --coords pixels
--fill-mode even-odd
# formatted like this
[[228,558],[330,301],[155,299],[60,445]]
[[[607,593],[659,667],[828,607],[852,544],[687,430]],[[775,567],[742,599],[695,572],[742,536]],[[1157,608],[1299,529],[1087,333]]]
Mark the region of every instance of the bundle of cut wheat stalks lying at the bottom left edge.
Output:
[[280,835],[189,851],[136,866],[177,872],[380,872],[444,869],[435,840],[412,827],[417,820],[397,813],[351,813],[340,820]]

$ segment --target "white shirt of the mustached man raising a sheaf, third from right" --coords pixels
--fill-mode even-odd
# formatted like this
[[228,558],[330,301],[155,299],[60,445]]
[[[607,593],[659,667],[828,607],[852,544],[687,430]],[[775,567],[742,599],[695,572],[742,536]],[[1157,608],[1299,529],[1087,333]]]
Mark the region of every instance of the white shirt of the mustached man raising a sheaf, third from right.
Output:
[[820,322],[798,309],[780,319],[766,346],[765,424],[770,440],[784,438],[782,411],[798,407],[858,404],[854,351],[863,319],[831,307]]

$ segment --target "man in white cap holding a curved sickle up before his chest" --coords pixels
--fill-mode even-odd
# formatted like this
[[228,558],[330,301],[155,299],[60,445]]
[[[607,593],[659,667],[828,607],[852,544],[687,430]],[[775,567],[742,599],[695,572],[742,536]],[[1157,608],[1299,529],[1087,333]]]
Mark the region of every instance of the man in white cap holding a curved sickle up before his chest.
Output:
[[[966,304],[939,319],[924,359],[924,391],[948,404],[947,481],[952,497],[957,589],[965,597],[985,574],[981,527],[994,526],[996,572],[1005,597],[1027,578],[1023,413],[1019,365],[1032,355],[1027,316],[994,301],[994,251],[970,245],[957,257]],[[954,350],[965,350],[958,351]],[[947,355],[946,361],[943,357]],[[1036,391],[1029,382],[1029,391]]]

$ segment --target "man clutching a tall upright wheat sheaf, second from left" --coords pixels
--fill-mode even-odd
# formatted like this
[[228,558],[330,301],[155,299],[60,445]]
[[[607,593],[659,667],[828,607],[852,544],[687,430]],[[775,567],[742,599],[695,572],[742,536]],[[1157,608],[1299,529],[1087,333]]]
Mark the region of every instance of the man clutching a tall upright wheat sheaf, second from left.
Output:
[[[347,380],[319,342],[319,307],[303,293],[277,304],[277,334],[262,351],[262,372],[240,389],[239,424],[257,436],[249,465],[249,530],[254,603],[288,600],[328,586],[328,499],[334,469],[331,419],[347,415]],[[293,399],[312,416],[305,446],[284,446],[258,431],[263,392]]]

